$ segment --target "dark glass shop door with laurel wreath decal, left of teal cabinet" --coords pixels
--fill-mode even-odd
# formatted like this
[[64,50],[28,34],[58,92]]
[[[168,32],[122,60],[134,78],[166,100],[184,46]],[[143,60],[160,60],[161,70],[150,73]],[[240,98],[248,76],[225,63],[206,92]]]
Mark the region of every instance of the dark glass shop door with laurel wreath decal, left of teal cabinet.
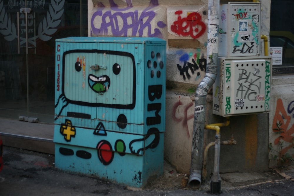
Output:
[[0,0],[0,118],[54,122],[55,39],[87,36],[87,0]]

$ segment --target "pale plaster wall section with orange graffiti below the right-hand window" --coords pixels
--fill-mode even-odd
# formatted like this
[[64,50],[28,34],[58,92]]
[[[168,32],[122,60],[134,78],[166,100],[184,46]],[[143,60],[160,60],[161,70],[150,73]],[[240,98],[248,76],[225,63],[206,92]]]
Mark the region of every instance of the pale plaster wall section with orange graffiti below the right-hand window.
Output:
[[[290,164],[294,154],[294,76],[273,77],[269,115],[269,167]],[[290,156],[290,157],[288,157]],[[288,158],[287,158],[288,157]]]

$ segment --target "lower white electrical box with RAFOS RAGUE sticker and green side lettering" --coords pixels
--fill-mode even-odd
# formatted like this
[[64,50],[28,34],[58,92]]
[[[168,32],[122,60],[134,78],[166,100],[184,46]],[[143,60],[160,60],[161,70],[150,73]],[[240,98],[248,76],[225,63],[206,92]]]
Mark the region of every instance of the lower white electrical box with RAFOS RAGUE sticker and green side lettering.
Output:
[[213,114],[234,116],[270,111],[271,57],[218,57]]

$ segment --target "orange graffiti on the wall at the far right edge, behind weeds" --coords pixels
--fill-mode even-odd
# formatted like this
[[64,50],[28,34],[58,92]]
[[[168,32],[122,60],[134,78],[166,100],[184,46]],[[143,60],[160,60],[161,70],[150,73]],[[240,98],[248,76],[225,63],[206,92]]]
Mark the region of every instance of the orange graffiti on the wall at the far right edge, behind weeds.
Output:
[[[275,145],[280,145],[280,154],[285,155],[294,146],[294,101],[284,106],[283,100],[278,99],[273,118],[273,133],[278,136]],[[283,143],[281,143],[283,142]],[[282,144],[282,145],[281,145]]]

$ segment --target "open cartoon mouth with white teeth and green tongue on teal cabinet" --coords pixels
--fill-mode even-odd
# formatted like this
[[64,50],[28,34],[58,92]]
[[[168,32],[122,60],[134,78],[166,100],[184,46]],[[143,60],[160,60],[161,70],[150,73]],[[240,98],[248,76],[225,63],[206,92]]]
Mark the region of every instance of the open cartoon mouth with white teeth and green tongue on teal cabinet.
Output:
[[95,76],[90,74],[88,76],[88,83],[90,88],[96,93],[104,93],[109,89],[110,79],[107,75]]

